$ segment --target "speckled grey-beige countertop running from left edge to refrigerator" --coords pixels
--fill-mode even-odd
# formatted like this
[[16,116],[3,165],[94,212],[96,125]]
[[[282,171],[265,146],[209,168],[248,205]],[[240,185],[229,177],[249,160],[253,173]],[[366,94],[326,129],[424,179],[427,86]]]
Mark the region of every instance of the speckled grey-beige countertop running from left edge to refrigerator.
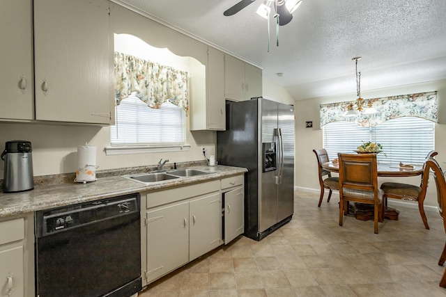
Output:
[[211,172],[208,175],[181,177],[152,184],[141,184],[121,176],[102,177],[95,182],[43,184],[36,185],[31,191],[19,193],[0,193],[0,218],[17,214],[26,214],[52,207],[100,200],[118,195],[144,191],[160,190],[174,186],[183,186],[194,182],[206,182],[247,172],[246,168],[232,166],[194,166],[197,170]]

